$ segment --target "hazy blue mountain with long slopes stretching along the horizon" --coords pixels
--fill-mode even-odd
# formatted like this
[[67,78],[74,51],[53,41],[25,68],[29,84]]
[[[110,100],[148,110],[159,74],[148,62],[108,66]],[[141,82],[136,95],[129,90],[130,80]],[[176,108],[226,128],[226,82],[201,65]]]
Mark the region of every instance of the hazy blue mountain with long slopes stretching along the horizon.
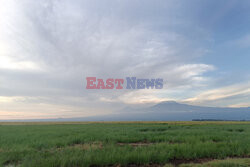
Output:
[[[131,108],[110,115],[60,118],[39,121],[191,121],[191,120],[250,120],[250,107],[204,107],[165,101],[151,107]],[[22,120],[25,121],[25,120]],[[32,121],[32,120],[29,120]],[[38,120],[33,120],[38,121]]]

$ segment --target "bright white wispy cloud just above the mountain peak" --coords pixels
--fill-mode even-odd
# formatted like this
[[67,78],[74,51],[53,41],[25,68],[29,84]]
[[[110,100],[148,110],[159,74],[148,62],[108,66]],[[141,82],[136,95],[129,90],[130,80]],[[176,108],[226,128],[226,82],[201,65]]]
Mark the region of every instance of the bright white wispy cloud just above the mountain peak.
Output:
[[171,67],[164,70],[164,75],[162,75],[167,80],[164,89],[128,90],[114,97],[100,97],[100,100],[125,104],[153,104],[168,100],[183,100],[185,96],[181,96],[180,93],[191,94],[191,87],[193,89],[204,87],[209,78],[203,77],[203,73],[214,70],[213,66],[205,64],[185,64]]

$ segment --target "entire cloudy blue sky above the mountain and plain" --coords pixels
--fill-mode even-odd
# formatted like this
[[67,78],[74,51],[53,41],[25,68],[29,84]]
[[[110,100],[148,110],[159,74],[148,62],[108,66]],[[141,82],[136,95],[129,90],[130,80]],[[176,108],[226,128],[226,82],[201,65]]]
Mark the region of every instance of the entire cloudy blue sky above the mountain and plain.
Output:
[[[168,100],[250,106],[249,8],[246,0],[0,0],[0,120]],[[163,89],[86,89],[86,77],[133,76],[163,78]]]

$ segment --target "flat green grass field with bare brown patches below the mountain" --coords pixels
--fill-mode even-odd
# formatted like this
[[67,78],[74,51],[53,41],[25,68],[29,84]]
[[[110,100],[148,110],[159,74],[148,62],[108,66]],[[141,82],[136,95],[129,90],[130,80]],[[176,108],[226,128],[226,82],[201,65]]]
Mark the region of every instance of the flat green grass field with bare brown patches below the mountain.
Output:
[[250,166],[250,123],[0,123],[0,166]]

